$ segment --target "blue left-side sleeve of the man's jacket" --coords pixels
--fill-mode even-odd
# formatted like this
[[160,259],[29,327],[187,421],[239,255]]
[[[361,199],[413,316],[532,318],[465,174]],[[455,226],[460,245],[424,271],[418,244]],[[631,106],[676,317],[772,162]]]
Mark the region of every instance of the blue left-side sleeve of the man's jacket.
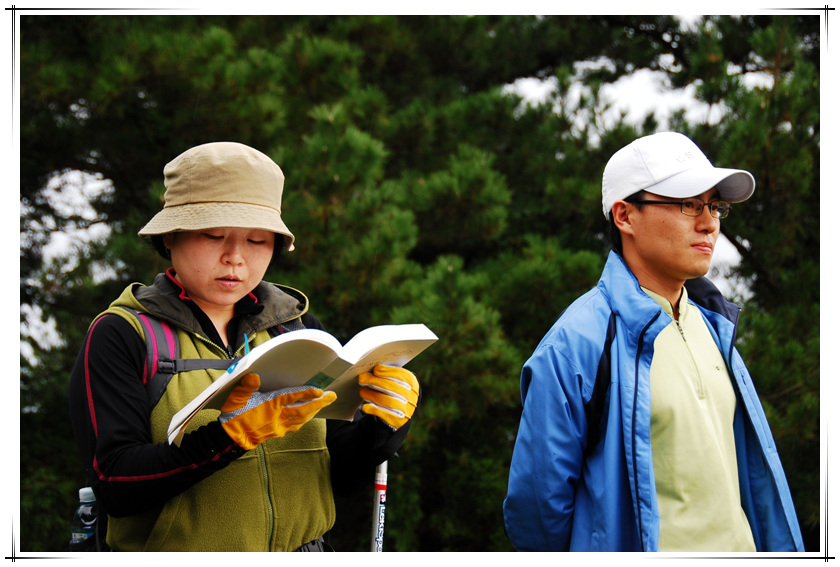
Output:
[[581,373],[551,344],[522,370],[523,411],[504,521],[518,551],[568,551],[586,444]]

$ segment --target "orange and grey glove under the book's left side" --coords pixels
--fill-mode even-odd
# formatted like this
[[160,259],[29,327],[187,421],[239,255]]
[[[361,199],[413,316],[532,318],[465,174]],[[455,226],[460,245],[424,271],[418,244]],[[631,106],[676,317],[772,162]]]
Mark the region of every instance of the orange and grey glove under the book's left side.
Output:
[[271,392],[260,392],[259,387],[260,377],[246,374],[228,395],[219,416],[227,434],[246,450],[297,431],[336,397],[335,392],[311,386]]

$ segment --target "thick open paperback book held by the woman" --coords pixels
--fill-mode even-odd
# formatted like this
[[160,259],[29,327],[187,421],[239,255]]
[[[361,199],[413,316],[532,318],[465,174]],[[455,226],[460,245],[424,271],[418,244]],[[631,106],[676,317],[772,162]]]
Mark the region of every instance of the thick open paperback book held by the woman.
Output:
[[317,417],[351,420],[362,404],[359,374],[377,364],[403,366],[437,339],[422,324],[370,327],[343,347],[335,337],[318,329],[278,335],[251,349],[176,413],[169,423],[169,442],[181,444],[187,424],[199,411],[220,410],[231,390],[249,372],[259,374],[263,392],[302,385],[332,390],[338,397]]

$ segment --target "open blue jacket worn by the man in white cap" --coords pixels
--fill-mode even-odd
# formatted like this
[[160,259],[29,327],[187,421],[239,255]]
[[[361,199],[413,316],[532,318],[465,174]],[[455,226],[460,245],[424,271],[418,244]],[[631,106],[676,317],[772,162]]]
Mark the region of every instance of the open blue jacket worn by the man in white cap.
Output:
[[[740,309],[705,278],[686,288],[726,360],[738,399],[741,505],[756,549],[804,551],[770,428],[734,346]],[[615,339],[609,342],[611,312]],[[504,502],[505,529],[517,550],[659,549],[650,363],[654,340],[670,321],[613,252],[598,285],[560,316],[526,362]],[[599,364],[608,379],[598,386],[604,395],[593,397]],[[598,422],[594,432],[592,419]]]

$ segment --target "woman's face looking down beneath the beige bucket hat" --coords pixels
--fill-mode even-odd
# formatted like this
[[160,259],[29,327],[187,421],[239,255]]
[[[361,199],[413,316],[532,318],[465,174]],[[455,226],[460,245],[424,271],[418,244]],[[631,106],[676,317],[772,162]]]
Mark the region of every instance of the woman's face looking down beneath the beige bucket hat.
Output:
[[265,276],[274,233],[250,228],[212,228],[163,235],[175,277],[208,315],[231,312]]

